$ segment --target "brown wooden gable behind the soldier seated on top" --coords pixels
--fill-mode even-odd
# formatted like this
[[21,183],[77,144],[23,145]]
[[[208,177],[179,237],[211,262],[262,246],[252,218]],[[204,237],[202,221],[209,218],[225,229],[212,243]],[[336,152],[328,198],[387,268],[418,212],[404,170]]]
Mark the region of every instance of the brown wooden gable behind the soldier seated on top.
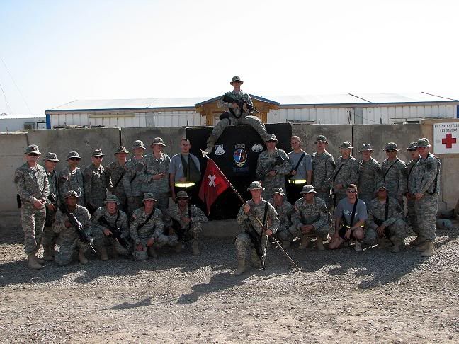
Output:
[[[205,117],[205,125],[215,125],[216,120],[226,110],[218,107],[218,101],[222,96],[218,96],[208,101],[195,104],[196,112]],[[254,107],[261,112],[253,113],[254,116],[259,117],[264,123],[268,122],[269,110],[278,110],[280,103],[270,101],[269,99],[261,98],[259,96],[250,95]]]

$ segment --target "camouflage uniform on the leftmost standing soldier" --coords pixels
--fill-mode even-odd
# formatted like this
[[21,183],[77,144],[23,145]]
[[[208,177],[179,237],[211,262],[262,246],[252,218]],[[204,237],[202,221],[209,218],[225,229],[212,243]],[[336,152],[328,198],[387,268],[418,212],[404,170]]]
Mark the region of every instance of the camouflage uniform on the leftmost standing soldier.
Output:
[[45,227],[45,206],[37,209],[35,200],[46,200],[50,194],[50,183],[45,168],[36,165],[30,168],[23,164],[16,168],[14,183],[21,197],[21,223],[24,231],[24,251],[28,255],[37,253],[42,240],[43,227]]

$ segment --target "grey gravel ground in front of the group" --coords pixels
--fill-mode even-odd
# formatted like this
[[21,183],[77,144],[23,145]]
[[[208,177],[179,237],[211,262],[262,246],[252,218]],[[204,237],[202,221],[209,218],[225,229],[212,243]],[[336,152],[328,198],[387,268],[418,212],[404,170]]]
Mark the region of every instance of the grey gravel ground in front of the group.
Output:
[[[459,228],[436,255],[278,248],[266,270],[236,268],[231,240],[197,258],[160,251],[67,267],[26,266],[21,229],[0,231],[2,343],[458,343]],[[407,242],[413,239],[407,238]]]

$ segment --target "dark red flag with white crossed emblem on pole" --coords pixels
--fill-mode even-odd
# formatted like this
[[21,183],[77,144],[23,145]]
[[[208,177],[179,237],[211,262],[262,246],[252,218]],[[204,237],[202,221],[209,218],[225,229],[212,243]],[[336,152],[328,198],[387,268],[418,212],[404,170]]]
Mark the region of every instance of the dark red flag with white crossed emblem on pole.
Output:
[[210,207],[217,200],[217,197],[225,192],[229,186],[230,183],[222,171],[220,171],[220,168],[218,168],[212,159],[208,159],[203,182],[199,190],[199,197],[205,202],[208,214],[210,214]]

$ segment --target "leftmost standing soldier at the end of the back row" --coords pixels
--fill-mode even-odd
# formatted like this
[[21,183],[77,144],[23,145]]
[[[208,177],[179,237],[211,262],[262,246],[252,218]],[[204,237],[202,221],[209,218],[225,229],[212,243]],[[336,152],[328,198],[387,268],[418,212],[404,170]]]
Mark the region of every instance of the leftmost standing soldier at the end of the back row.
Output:
[[43,227],[45,227],[45,205],[50,194],[50,183],[45,168],[37,164],[40,149],[31,144],[25,151],[26,164],[16,168],[14,183],[21,198],[21,223],[24,231],[24,251],[28,255],[28,267],[42,268],[45,260],[38,258]]

